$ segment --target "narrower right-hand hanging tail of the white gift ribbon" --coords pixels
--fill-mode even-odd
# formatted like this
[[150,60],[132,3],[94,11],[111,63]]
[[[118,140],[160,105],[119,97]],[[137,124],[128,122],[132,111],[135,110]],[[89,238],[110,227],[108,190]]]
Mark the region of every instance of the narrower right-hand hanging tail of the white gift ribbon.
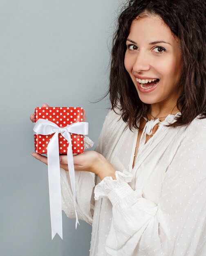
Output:
[[[71,182],[71,187],[72,187],[72,193],[73,193],[73,202],[74,202],[74,210],[75,210],[75,215],[76,215],[76,227],[78,222],[78,216],[76,212],[76,189],[75,189],[75,173],[74,173],[74,161],[73,161],[73,154],[72,154],[72,140],[71,140],[71,135],[68,132],[67,133],[67,140],[69,141],[69,146],[67,148],[67,162],[68,162],[68,168],[69,168],[69,177],[70,177],[70,182]],[[65,136],[65,135],[63,135]]]

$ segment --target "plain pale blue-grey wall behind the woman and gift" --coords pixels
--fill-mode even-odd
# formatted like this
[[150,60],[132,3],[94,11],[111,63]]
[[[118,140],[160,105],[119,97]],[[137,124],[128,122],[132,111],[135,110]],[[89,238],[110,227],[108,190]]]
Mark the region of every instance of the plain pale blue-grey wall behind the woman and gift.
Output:
[[34,151],[36,106],[82,106],[98,139],[108,99],[109,50],[123,0],[0,1],[0,255],[87,256],[91,226],[63,212],[51,241],[47,166]]

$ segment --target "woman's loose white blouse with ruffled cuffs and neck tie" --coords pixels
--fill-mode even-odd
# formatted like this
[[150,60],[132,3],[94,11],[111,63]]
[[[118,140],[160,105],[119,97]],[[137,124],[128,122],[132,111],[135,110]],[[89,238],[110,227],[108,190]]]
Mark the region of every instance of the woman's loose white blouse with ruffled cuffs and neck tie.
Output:
[[[116,180],[95,186],[93,173],[75,173],[78,218],[92,225],[90,256],[205,256],[206,119],[172,128],[168,115],[146,144],[142,135],[132,168],[138,130],[119,117],[108,113],[95,149]],[[60,172],[62,209],[75,218],[69,175]]]

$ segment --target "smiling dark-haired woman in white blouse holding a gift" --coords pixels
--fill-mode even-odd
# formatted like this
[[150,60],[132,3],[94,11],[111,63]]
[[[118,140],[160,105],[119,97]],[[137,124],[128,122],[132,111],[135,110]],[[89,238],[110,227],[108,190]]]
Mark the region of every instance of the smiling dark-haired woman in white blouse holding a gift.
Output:
[[205,11],[204,0],[131,0],[119,16],[111,110],[95,151],[74,157],[91,256],[206,255]]

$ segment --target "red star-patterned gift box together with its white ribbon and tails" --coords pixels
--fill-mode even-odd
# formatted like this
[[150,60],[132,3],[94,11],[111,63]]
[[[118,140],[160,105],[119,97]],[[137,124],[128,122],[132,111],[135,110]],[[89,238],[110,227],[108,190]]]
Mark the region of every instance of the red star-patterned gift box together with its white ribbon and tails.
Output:
[[67,154],[77,227],[73,155],[84,151],[88,123],[83,122],[83,108],[41,107],[35,109],[33,130],[36,153],[47,153],[51,239],[56,233],[63,239],[59,153]]

